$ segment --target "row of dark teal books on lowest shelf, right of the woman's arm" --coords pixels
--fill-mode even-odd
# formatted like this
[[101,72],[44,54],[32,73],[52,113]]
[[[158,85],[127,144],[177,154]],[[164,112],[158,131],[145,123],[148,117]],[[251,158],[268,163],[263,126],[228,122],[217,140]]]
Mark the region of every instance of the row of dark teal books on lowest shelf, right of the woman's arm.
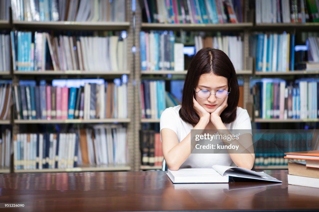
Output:
[[287,166],[284,152],[309,151],[313,132],[253,133],[255,166]]

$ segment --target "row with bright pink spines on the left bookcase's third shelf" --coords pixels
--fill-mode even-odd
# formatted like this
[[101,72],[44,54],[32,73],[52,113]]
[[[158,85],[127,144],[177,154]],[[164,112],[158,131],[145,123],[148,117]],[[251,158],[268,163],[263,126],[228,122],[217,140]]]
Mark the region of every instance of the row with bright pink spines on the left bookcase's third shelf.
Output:
[[127,85],[85,83],[79,87],[15,85],[17,119],[127,118]]

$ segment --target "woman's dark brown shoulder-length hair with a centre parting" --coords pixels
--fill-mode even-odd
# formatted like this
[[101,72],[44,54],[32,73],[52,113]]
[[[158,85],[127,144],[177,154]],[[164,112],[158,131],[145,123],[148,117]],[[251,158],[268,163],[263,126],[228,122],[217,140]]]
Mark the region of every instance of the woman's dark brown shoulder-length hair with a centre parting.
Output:
[[193,96],[195,95],[199,77],[202,74],[213,73],[227,78],[228,95],[227,108],[220,114],[223,123],[231,123],[236,119],[237,105],[239,101],[238,81],[233,63],[228,56],[221,50],[203,48],[199,50],[189,64],[186,74],[182,107],[179,111],[180,117],[189,124],[197,124],[199,116],[194,110]]

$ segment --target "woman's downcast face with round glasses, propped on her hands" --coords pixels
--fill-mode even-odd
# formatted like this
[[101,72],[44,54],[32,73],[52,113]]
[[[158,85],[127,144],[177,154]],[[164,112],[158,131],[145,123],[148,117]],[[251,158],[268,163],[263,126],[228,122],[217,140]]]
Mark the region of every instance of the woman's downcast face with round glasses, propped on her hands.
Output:
[[[201,89],[207,89],[211,92],[216,92],[221,89],[228,91],[228,80],[226,77],[217,76],[213,73],[202,74],[195,87],[196,92]],[[215,93],[211,93],[207,99],[201,99],[195,93],[195,99],[209,113],[214,112],[225,100],[216,98]]]

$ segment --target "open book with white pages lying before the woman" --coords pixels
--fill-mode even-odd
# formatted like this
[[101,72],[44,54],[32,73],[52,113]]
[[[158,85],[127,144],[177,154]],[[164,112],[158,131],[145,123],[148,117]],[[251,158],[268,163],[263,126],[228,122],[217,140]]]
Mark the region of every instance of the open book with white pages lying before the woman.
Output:
[[167,170],[173,183],[227,183],[230,178],[243,178],[260,181],[282,182],[264,172],[233,166],[214,165],[211,168],[189,168],[177,171]]

